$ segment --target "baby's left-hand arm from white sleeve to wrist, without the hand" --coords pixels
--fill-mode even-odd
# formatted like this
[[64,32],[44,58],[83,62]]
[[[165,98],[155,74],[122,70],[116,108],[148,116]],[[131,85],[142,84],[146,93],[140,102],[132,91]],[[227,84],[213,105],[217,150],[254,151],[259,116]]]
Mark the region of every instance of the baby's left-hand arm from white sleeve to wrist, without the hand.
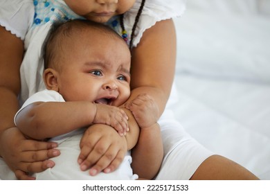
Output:
[[22,109],[16,117],[17,127],[32,139],[44,140],[89,126],[96,105],[78,102],[36,102]]

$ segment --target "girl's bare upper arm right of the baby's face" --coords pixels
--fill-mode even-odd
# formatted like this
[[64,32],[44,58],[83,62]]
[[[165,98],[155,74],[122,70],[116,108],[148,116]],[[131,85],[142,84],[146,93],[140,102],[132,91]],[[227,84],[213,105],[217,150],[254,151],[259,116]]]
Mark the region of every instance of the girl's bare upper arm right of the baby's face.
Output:
[[176,34],[172,19],[159,21],[145,30],[140,43],[132,51],[132,100],[138,94],[149,94],[163,113],[176,62]]

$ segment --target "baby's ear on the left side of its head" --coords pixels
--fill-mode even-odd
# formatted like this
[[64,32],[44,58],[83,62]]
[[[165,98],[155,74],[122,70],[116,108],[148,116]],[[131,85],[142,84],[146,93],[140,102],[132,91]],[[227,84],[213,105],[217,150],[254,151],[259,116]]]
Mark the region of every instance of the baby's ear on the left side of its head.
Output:
[[57,76],[58,73],[55,71],[55,69],[45,69],[43,73],[43,80],[47,89],[59,91]]

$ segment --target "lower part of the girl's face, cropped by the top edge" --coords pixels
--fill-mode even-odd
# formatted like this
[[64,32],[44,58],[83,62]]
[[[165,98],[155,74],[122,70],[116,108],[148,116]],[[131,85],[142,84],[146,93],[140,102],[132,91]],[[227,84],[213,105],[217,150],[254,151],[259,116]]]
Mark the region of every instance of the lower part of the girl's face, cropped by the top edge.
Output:
[[136,0],[64,0],[76,14],[91,21],[107,22],[114,15],[127,12]]

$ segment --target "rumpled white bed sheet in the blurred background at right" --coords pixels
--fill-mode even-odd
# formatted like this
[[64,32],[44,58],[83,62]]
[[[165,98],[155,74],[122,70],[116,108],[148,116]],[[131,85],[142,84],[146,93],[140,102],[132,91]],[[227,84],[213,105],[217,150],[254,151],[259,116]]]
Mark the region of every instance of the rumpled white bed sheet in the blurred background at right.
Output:
[[[208,6],[217,1],[189,2],[186,14],[174,20],[177,118],[206,148],[233,159],[260,179],[270,179],[267,8],[261,13],[259,1],[227,0],[217,3],[220,11],[210,11]],[[247,3],[246,9],[241,3]],[[230,8],[235,9],[230,12]]]

